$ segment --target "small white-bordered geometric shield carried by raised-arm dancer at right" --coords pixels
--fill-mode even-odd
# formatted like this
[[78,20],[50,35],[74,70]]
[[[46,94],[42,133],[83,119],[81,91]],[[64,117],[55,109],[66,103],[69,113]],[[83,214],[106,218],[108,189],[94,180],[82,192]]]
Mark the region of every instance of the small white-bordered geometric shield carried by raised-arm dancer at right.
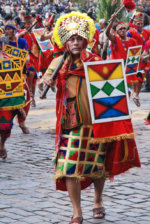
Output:
[[125,66],[126,75],[133,75],[137,73],[141,55],[141,47],[142,46],[135,46],[128,49]]

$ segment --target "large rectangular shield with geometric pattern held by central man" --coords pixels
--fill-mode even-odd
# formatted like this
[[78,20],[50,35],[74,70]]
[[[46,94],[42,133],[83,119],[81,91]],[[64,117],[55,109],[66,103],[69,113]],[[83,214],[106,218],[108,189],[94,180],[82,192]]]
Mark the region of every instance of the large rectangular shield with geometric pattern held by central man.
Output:
[[86,71],[92,122],[128,119],[128,92],[122,61],[88,64]]

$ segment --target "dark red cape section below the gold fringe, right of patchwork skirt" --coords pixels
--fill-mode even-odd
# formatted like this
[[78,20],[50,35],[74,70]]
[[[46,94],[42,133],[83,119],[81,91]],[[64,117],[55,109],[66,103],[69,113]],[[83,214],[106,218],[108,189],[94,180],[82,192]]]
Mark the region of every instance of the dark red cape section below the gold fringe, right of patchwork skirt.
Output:
[[105,168],[110,176],[121,174],[132,167],[141,166],[134,139],[107,143],[105,149]]

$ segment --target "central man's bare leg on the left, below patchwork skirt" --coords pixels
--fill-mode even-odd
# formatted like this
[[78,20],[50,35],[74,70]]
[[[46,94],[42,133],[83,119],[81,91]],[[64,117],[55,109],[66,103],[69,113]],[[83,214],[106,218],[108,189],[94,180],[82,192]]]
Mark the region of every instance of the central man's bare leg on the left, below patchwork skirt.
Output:
[[81,217],[81,188],[76,178],[66,178],[67,191],[73,206],[73,217]]

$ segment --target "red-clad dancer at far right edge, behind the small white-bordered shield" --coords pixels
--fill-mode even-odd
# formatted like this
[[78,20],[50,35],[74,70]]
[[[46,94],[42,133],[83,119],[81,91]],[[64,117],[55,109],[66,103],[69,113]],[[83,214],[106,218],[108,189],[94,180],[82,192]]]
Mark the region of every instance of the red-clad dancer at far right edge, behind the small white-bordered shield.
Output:
[[[133,25],[134,28],[129,29],[127,32],[128,37],[132,37],[136,39],[137,45],[142,45],[142,51],[144,49],[144,45],[150,37],[150,30],[144,29],[144,14],[143,13],[135,13],[133,16]],[[133,100],[137,106],[140,106],[139,93],[142,87],[144,74],[142,70],[144,69],[144,64],[140,61],[139,63],[139,72],[137,73],[137,82],[135,83],[136,94],[133,95]]]

